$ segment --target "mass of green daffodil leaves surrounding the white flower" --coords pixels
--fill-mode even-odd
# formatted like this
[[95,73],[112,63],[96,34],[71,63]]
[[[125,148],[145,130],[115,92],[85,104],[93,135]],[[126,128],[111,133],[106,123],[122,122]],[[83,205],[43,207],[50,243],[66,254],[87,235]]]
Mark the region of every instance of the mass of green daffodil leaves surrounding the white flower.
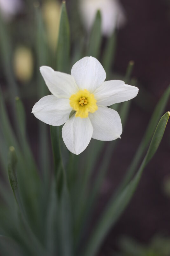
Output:
[[[105,47],[102,47],[100,12],[97,12],[91,35],[87,37],[78,22],[78,15],[73,18],[76,1],[70,6],[73,12],[69,13],[69,17],[63,2],[61,7],[58,4],[52,7],[57,7],[56,12],[61,8],[60,23],[56,24],[57,45],[54,49],[55,40],[51,41],[48,34],[51,33],[48,31],[50,25],[43,18],[43,3],[45,1],[42,1],[41,6],[39,2],[27,1],[24,18],[18,17],[13,24],[0,20],[0,252],[3,256],[94,256],[132,198],[146,164],[161,142],[169,118],[169,112],[164,115],[163,112],[170,87],[153,112],[126,177],[108,201],[95,226],[90,229],[100,188],[118,141],[105,144],[92,140],[89,147],[76,156],[66,149],[61,138],[61,127],[51,126],[51,147],[48,126],[37,121],[38,160],[35,161],[27,135],[30,128],[28,120],[34,117],[31,117],[31,109],[30,114],[25,114],[25,101],[29,102],[30,108],[37,99],[49,93],[39,74],[39,66],[42,65],[70,73],[73,63],[86,55],[92,55],[99,58],[109,79],[114,79],[116,75],[112,73],[112,64],[116,50],[116,31],[107,39]],[[57,20],[56,17],[53,19]],[[29,76],[25,73],[25,80],[24,66],[22,76],[17,74],[17,66],[16,70],[12,66],[13,63],[16,65],[16,58],[23,58],[22,54],[16,57],[18,44],[28,47],[31,56],[33,54],[33,73]],[[14,62],[11,61],[13,56]],[[30,59],[27,63],[31,63]],[[22,61],[18,61],[17,65],[22,66]],[[122,76],[126,83],[132,84],[134,81],[131,80],[132,68],[131,61],[126,75]],[[111,107],[118,110],[125,127],[130,102]],[[10,116],[7,108],[10,109]],[[99,158],[101,167],[92,183],[94,167]]]

